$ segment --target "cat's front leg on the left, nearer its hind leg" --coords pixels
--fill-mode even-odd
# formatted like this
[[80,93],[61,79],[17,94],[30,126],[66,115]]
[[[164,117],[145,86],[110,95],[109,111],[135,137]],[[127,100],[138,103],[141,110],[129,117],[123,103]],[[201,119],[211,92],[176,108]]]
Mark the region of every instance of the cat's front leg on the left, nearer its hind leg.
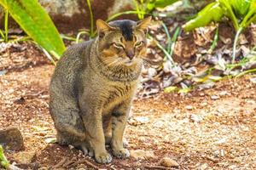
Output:
[[81,115],[86,131],[86,139],[94,151],[98,163],[109,163],[112,157],[105,148],[105,137],[102,127],[102,110],[99,105],[80,103]]

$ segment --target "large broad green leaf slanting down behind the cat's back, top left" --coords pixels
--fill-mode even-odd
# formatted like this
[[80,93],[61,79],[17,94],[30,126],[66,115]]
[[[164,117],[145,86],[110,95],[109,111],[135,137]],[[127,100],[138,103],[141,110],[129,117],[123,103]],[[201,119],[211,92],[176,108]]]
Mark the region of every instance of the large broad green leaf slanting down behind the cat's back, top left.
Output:
[[29,37],[60,59],[65,45],[44,8],[35,0],[0,0]]

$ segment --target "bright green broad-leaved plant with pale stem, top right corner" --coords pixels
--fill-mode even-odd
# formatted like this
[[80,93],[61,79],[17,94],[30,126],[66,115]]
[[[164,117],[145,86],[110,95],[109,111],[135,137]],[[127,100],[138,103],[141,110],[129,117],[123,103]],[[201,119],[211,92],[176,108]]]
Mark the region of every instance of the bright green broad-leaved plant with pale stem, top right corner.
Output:
[[238,37],[241,31],[256,19],[256,0],[216,0],[203,8],[196,15],[195,19],[189,20],[189,22],[183,25],[183,29],[191,31],[197,27],[207,26],[212,21],[221,21],[224,16],[232,21],[236,30],[232,55],[232,63],[234,63]]

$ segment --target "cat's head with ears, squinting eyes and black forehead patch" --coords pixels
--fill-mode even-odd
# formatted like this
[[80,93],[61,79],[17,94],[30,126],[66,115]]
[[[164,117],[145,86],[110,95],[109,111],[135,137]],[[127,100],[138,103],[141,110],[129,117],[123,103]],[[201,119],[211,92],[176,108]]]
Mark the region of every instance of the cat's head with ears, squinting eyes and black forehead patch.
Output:
[[106,23],[97,20],[98,50],[102,62],[109,66],[131,67],[141,64],[146,55],[146,32],[151,17],[139,22],[116,20]]

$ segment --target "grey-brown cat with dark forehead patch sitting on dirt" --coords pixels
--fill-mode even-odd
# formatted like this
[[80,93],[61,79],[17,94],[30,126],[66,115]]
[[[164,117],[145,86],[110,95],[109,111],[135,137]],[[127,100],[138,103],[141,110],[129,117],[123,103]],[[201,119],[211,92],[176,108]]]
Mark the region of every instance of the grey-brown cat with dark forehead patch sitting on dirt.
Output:
[[130,156],[123,136],[150,21],[96,20],[97,37],[63,54],[49,86],[49,112],[59,144],[73,144],[98,163],[112,161],[105,144],[117,158]]

